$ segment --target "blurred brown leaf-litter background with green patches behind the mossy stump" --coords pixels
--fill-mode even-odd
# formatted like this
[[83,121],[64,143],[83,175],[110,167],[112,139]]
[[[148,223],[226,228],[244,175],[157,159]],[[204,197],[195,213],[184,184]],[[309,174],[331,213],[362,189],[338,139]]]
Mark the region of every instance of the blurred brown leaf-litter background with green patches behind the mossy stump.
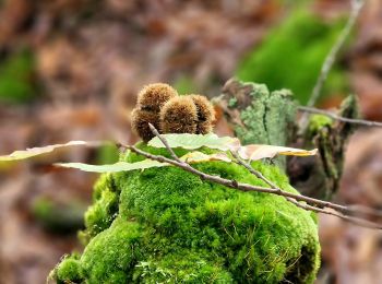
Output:
[[[213,97],[238,76],[306,104],[349,11],[349,0],[0,0],[0,155],[70,140],[133,143],[130,111],[152,82]],[[382,120],[381,27],[382,1],[369,0],[319,107],[351,92],[366,119]],[[351,138],[337,200],[382,209],[381,140],[371,128]],[[76,232],[97,175],[51,163],[117,155],[79,147],[0,164],[0,283],[45,283],[82,249]],[[382,283],[381,232],[329,216],[320,232],[318,283]]]

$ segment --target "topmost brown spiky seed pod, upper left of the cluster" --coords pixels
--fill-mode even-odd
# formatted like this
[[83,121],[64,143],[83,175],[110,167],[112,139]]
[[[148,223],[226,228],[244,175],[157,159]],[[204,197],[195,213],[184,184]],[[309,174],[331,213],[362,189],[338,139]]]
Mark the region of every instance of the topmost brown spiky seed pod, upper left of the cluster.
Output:
[[138,106],[142,110],[159,113],[163,105],[176,96],[178,96],[178,92],[168,84],[150,84],[138,94]]

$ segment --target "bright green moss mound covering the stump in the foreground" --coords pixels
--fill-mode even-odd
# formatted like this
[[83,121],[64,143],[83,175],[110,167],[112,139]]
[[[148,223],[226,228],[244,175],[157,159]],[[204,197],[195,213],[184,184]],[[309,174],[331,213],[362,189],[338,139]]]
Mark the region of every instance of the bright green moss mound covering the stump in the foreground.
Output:
[[[166,150],[139,146],[168,156]],[[177,150],[178,155],[186,152]],[[121,156],[129,162],[142,158],[132,153]],[[232,163],[194,166],[266,186]],[[261,163],[253,167],[297,193],[277,167]],[[65,258],[56,268],[58,283],[312,283],[315,279],[320,262],[315,216],[282,197],[241,192],[172,166],[104,175],[94,197],[84,233],[89,241],[80,258]],[[118,209],[108,210],[116,200]]]

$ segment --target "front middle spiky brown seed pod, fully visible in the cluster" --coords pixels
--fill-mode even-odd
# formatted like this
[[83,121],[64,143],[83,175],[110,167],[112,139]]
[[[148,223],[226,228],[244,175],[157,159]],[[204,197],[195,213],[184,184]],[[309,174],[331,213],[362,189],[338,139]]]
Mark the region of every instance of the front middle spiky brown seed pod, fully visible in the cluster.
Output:
[[160,110],[163,133],[196,133],[198,109],[191,97],[178,96]]

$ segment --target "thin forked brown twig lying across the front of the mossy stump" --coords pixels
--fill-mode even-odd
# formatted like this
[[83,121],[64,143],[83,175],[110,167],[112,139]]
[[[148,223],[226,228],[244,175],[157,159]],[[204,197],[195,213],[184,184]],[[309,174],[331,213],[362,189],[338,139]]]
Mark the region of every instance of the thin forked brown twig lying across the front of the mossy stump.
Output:
[[[152,127],[152,128],[154,128],[154,127]],[[156,129],[154,128],[154,130],[156,130]],[[153,133],[155,133],[155,135],[164,143],[164,145],[169,151],[169,153],[174,153],[174,151],[171,150],[171,147],[167,143],[166,139],[163,138],[158,131],[153,131]],[[189,173],[192,173],[192,174],[199,176],[203,180],[216,182],[216,184],[219,184],[219,185],[223,185],[223,186],[226,186],[229,188],[235,188],[235,189],[238,189],[241,191],[256,191],[256,192],[276,194],[276,196],[287,198],[288,201],[290,201],[289,199],[293,199],[294,201],[290,201],[290,202],[293,202],[296,205],[298,203],[298,206],[300,206],[300,208],[311,210],[314,212],[321,212],[321,213],[325,213],[325,214],[330,214],[330,215],[335,215],[335,216],[338,216],[343,220],[346,220],[346,221],[349,221],[351,223],[356,223],[358,225],[362,225],[366,227],[382,229],[382,225],[380,225],[380,224],[375,224],[375,223],[372,223],[372,222],[369,222],[366,220],[361,220],[361,218],[357,218],[357,217],[346,216],[346,215],[337,213],[337,212],[331,212],[331,211],[324,210],[325,208],[331,208],[333,210],[336,210],[336,211],[339,211],[343,213],[349,212],[350,210],[344,205],[339,205],[339,204],[335,204],[335,203],[332,203],[329,201],[322,201],[319,199],[313,199],[313,198],[309,198],[309,197],[305,197],[305,196],[300,196],[300,194],[295,194],[291,192],[283,191],[279,188],[265,188],[265,187],[252,186],[252,185],[248,185],[248,184],[238,182],[237,180],[230,180],[230,179],[222,178],[219,176],[208,175],[208,174],[205,174],[203,171],[200,171],[200,170],[193,168],[190,164],[180,161],[179,157],[175,153],[174,153],[174,155],[171,154],[171,156],[175,159],[171,159],[171,158],[167,158],[165,156],[153,155],[151,153],[147,153],[145,151],[136,149],[135,146],[126,145],[126,147],[128,147],[131,151],[135,152],[136,154],[145,156],[150,159],[158,161],[162,163],[168,163],[168,164],[171,164],[174,166],[180,167]],[[270,182],[272,182],[272,181],[270,181]],[[301,204],[298,201],[303,201],[303,202],[307,202],[308,204]]]

